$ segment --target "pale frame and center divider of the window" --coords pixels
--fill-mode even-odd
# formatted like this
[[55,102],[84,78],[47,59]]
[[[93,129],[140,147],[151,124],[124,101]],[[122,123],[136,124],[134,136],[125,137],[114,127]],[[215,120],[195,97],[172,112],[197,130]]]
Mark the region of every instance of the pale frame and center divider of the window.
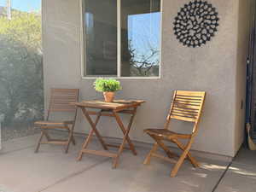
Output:
[[[150,79],[161,79],[161,69],[162,69],[162,31],[163,31],[163,0],[160,0],[160,65],[159,65],[159,76],[158,77],[120,77],[120,44],[118,40],[118,76],[113,76],[113,77],[108,77],[108,76],[91,76],[91,77],[86,77],[84,76],[84,49],[85,44],[84,44],[84,15],[83,15],[83,1],[84,0],[79,0],[79,9],[80,9],[80,39],[79,39],[79,44],[80,44],[80,73],[81,73],[81,78],[82,79],[97,79],[97,78],[113,78],[113,79],[131,79],[131,80],[150,80]],[[117,6],[118,6],[118,39],[121,38],[120,34],[120,6],[121,6],[121,0],[117,0]]]

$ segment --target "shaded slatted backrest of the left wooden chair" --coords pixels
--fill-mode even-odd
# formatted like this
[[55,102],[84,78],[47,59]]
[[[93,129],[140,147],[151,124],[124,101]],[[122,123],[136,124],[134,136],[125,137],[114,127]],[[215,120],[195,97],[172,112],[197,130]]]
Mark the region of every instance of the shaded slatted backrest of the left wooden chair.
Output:
[[79,102],[79,89],[51,89],[49,112],[75,112],[76,106],[70,102]]

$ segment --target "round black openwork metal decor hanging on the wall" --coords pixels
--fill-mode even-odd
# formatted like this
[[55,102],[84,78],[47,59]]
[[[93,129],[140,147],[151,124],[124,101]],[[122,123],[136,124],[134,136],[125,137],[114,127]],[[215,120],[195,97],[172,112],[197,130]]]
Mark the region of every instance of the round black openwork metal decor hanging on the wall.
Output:
[[184,46],[200,47],[217,32],[218,21],[218,12],[211,3],[195,0],[185,4],[177,13],[174,34]]

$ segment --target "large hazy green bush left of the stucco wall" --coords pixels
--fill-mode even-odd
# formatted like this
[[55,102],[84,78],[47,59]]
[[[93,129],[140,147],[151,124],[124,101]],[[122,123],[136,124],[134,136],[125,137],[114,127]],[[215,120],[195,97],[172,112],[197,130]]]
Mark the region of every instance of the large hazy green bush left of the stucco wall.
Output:
[[12,134],[44,116],[41,36],[39,14],[12,10],[11,20],[0,14],[0,117]]

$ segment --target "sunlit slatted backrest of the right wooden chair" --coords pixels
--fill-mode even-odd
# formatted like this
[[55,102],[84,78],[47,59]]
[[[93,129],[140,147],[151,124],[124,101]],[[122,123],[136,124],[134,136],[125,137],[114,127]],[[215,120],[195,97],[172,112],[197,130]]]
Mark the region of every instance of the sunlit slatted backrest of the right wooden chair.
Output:
[[176,90],[170,110],[171,119],[198,121],[205,96],[204,91]]

